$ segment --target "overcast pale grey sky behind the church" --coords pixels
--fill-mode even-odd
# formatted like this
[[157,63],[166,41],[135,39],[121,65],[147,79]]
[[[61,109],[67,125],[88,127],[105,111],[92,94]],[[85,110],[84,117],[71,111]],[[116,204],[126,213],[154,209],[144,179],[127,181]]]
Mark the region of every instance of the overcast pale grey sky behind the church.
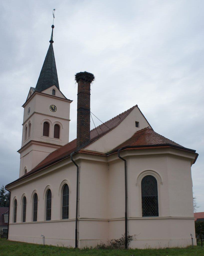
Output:
[[155,132],[199,153],[193,191],[204,211],[202,0],[2,2],[0,185],[19,177],[21,106],[49,47],[53,8],[59,87],[73,100],[70,141],[76,138],[74,75],[86,70],[96,78],[91,111],[99,119],[138,104]]

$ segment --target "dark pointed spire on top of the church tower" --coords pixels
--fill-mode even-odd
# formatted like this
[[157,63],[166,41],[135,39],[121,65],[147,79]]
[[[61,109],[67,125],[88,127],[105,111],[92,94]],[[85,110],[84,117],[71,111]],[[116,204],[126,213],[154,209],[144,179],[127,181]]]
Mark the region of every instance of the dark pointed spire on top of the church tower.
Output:
[[57,68],[55,63],[55,56],[53,50],[53,28],[52,25],[52,34],[50,39],[50,46],[48,48],[38,82],[36,84],[36,89],[40,92],[46,90],[47,88],[55,85],[59,89],[59,82],[57,77]]

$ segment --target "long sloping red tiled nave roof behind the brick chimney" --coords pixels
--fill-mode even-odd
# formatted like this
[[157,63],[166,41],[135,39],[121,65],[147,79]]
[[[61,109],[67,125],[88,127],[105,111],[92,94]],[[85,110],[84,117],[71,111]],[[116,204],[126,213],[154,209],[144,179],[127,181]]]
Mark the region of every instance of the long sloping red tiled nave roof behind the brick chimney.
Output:
[[[98,140],[100,137],[108,133],[109,131],[113,130],[115,127],[117,127],[128,115],[129,113],[135,108],[136,106],[133,106],[132,108],[126,110],[125,112],[115,116],[114,118],[110,119],[109,121],[99,125],[98,127],[94,128],[90,131],[90,143],[93,143],[94,141]],[[62,146],[61,148],[58,148],[57,150],[50,153],[45,159],[40,162],[37,166],[35,166],[30,172],[28,172],[26,175],[31,174],[35,170],[50,164],[57,159],[60,159],[66,155],[71,154],[73,151],[77,149],[77,139],[69,142],[68,144]]]

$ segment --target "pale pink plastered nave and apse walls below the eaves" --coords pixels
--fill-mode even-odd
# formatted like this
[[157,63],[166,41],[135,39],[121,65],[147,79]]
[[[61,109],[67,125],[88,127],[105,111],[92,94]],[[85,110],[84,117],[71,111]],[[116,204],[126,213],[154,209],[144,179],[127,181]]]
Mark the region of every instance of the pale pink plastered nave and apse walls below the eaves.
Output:
[[[127,159],[128,234],[137,235],[136,240],[130,243],[130,247],[159,248],[190,245],[189,232],[195,239],[193,206],[190,199],[185,201],[185,197],[191,196],[192,185],[190,189],[188,186],[177,186],[175,191],[172,184],[175,182],[184,184],[184,181],[187,185],[191,184],[190,166],[193,154],[190,157],[187,153],[180,155],[179,150],[160,149],[156,154],[151,150],[135,150],[135,152],[123,152],[121,155]],[[100,241],[107,242],[107,239],[121,237],[125,232],[124,162],[118,159],[117,155],[107,159],[78,154],[74,159],[80,166],[79,247],[96,246]],[[174,170],[177,175],[172,174]],[[145,174],[158,177],[159,217],[141,216],[139,183]],[[25,180],[25,184],[22,181],[22,185],[11,190],[11,202],[15,197],[18,206],[17,223],[12,223],[11,211],[9,239],[42,243],[39,233],[40,235],[43,233],[48,244],[74,246],[76,166],[67,159],[34,176],[35,179],[32,181]],[[59,190],[65,179],[70,186],[69,220],[61,220],[60,214]],[[45,196],[43,195],[47,186],[52,191],[51,221],[45,221]],[[37,222],[32,222],[31,219],[31,195],[34,190],[38,193]],[[21,222],[22,206],[19,206],[24,193],[28,197],[26,223]],[[178,208],[178,204],[183,200],[185,203]],[[51,232],[56,228],[60,231]]]

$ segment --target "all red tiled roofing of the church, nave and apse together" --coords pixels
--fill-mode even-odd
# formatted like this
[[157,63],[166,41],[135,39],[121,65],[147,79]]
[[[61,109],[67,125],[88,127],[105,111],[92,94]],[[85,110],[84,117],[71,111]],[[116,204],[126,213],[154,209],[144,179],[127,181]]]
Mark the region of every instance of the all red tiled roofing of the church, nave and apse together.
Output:
[[[100,137],[102,137],[109,131],[113,130],[115,127],[117,127],[129,115],[129,113],[135,107],[138,107],[138,106],[137,105],[133,106],[132,108],[128,109],[127,111],[115,116],[114,118],[110,119],[109,121],[99,125],[98,127],[94,128],[93,130],[91,130],[90,131],[90,143],[93,143],[94,141],[98,140]],[[139,109],[139,111],[140,111],[140,109]],[[89,144],[87,144],[87,145],[89,145]],[[155,144],[157,144],[157,145],[161,144],[161,146],[162,146],[162,144],[163,145],[171,144],[171,145],[182,147],[184,150],[190,150],[190,149],[187,149],[187,148],[175,143],[174,141],[171,141],[171,140],[165,138],[164,136],[154,132],[152,127],[151,128],[147,127],[147,128],[137,131],[132,137],[130,137],[128,140],[126,140],[125,142],[123,142],[122,144],[120,144],[119,146],[114,148],[112,151],[117,150],[122,147],[125,147],[125,146],[145,146],[145,145],[155,145]],[[87,145],[85,145],[84,147],[87,147]],[[21,180],[22,178],[27,177],[27,176],[31,175],[32,173],[35,173],[37,170],[40,170],[41,168],[43,169],[46,166],[49,166],[50,164],[54,164],[54,163],[62,160],[63,157],[64,158],[68,157],[72,152],[74,152],[76,150],[79,150],[78,152],[87,153],[87,154],[97,154],[97,155],[104,155],[104,156],[107,155],[107,154],[102,154],[100,152],[90,152],[90,151],[83,150],[82,148],[81,149],[77,148],[77,139],[75,139],[75,140],[69,142],[68,144],[62,146],[61,148],[58,148],[57,150],[50,153],[47,157],[45,157],[45,159],[42,162],[40,162],[37,166],[35,166],[30,172],[23,175],[22,177],[15,180],[14,182],[17,182],[18,180]],[[190,150],[190,151],[193,151],[193,150]],[[196,160],[196,158],[195,158],[195,160]],[[14,182],[9,183],[8,185],[13,184]]]

